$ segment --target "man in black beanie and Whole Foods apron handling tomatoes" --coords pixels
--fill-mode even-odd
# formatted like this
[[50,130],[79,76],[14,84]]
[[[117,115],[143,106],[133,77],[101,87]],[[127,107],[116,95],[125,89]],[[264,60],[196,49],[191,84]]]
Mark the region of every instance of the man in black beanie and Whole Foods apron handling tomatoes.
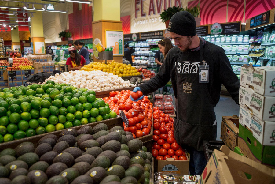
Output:
[[214,108],[220,99],[221,86],[226,87],[238,104],[240,81],[224,49],[196,35],[192,14],[175,13],[167,30],[177,47],[168,52],[159,73],[137,88],[148,94],[171,78],[178,99],[174,136],[190,154],[190,174],[201,175],[207,163],[203,140],[217,138]]

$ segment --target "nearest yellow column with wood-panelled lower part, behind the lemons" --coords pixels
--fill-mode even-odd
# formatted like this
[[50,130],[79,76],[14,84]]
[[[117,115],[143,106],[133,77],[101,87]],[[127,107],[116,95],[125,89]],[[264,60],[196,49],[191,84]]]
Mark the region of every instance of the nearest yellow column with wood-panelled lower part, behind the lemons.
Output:
[[[116,31],[122,31],[122,21],[120,21],[120,0],[94,1],[94,21],[92,24],[94,43],[96,39],[99,39],[104,47],[114,46],[115,51],[113,60],[122,63],[124,54],[123,32],[119,34],[117,41],[115,41],[115,39],[112,41],[108,39],[108,43],[106,42],[106,30],[114,31],[114,34],[119,33]],[[94,54],[94,62],[102,62],[102,60],[98,60],[96,54]]]

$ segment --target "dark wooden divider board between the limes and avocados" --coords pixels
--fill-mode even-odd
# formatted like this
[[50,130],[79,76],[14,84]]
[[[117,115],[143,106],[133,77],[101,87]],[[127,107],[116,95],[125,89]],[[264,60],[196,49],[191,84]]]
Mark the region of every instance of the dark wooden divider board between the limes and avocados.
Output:
[[[123,120],[121,119],[121,117],[118,116],[116,118],[107,119],[107,120],[103,120],[103,121],[99,121],[99,122],[94,122],[94,123],[88,123],[86,125],[74,126],[74,127],[71,127],[71,128],[73,128],[75,130],[78,130],[81,127],[87,126],[87,125],[91,126],[92,128],[94,128],[94,126],[96,126],[99,123],[105,123],[108,126],[108,130],[110,130],[114,126],[122,126],[123,127]],[[6,149],[6,148],[12,148],[12,149],[14,149],[14,148],[16,148],[16,146],[20,145],[22,142],[27,142],[27,141],[28,142],[32,142],[36,146],[38,144],[38,141],[42,137],[44,137],[45,135],[54,134],[54,135],[57,136],[57,138],[59,138],[59,134],[63,130],[65,130],[65,129],[57,130],[57,131],[49,132],[49,133],[43,133],[43,134],[35,135],[35,136],[32,136],[32,137],[26,137],[26,138],[14,140],[14,141],[9,141],[9,142],[1,143],[0,144],[0,151],[2,151],[3,149]]]

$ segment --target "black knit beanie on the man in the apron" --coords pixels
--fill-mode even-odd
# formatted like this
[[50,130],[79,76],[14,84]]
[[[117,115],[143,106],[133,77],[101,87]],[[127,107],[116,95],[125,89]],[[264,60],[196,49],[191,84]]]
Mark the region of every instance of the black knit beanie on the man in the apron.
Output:
[[177,12],[171,18],[167,30],[182,36],[195,36],[197,34],[195,18],[187,11]]

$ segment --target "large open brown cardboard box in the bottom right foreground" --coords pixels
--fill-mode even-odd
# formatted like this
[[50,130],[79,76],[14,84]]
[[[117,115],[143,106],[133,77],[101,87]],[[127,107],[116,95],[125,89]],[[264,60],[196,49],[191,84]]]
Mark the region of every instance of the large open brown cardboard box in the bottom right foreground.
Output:
[[214,150],[200,184],[275,183],[275,170],[230,151],[226,145]]

